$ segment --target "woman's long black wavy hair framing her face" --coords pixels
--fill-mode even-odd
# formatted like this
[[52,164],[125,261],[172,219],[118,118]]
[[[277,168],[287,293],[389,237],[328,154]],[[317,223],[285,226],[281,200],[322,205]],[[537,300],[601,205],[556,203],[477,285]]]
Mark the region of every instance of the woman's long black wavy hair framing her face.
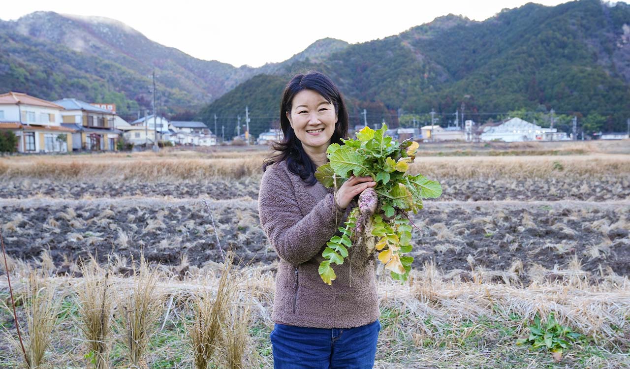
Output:
[[317,183],[317,179],[314,176],[315,164],[304,151],[302,142],[295,135],[295,131],[286,115],[287,111],[291,111],[295,95],[305,89],[319,93],[326,101],[335,106],[337,123],[335,124],[335,132],[333,132],[330,143],[341,144],[341,139],[348,138],[348,110],[337,86],[326,75],[318,71],[298,74],[289,81],[289,84],[284,89],[284,93],[282,93],[280,127],[284,137],[279,142],[273,142],[273,149],[277,150],[278,154],[265,159],[263,171],[276,162],[287,161],[289,171],[300,176],[307,185],[312,186]]

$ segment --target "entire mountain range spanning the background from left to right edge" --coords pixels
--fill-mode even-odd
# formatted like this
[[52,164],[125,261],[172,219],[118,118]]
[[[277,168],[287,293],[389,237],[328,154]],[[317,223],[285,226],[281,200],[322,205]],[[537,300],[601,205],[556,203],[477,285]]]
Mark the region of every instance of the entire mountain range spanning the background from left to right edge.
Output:
[[107,18],[36,12],[0,21],[0,91],[113,102],[135,115],[151,106],[154,69],[161,111],[196,114],[210,127],[217,115],[227,138],[245,106],[252,133],[266,130],[284,84],[309,69],[338,84],[355,124],[364,110],[368,123],[396,126],[401,114],[423,113],[425,122],[431,110],[446,124],[462,107],[477,121],[553,108],[563,124],[576,115],[593,130],[621,131],[630,117],[630,7],[578,0],[529,3],[485,21],[449,14],[370,42],[324,38],[259,68],[196,59]]

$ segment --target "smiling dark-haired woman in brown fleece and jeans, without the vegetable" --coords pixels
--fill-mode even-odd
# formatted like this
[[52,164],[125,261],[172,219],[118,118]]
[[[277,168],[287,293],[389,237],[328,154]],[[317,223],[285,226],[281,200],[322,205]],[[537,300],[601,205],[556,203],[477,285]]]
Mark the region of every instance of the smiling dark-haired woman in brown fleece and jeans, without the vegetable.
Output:
[[374,256],[354,244],[336,280],[326,285],[319,263],[351,202],[376,183],[348,179],[336,194],[314,178],[326,149],[348,135],[348,113],[335,84],[319,72],[295,76],[280,104],[284,139],[265,161],[258,198],[260,224],[275,247],[271,334],[273,364],[286,368],[372,368],[381,329]]

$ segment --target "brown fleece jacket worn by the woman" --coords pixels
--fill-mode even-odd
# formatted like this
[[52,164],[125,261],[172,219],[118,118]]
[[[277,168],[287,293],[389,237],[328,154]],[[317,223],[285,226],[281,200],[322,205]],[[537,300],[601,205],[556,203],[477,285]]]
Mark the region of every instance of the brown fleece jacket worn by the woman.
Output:
[[[348,207],[349,211],[350,207]],[[260,184],[258,215],[280,257],[273,298],[273,321],[290,326],[352,328],[379,317],[374,253],[350,247],[337,276],[326,285],[318,273],[321,253],[343,225],[347,212],[321,183],[307,186],[286,162],[267,167]]]

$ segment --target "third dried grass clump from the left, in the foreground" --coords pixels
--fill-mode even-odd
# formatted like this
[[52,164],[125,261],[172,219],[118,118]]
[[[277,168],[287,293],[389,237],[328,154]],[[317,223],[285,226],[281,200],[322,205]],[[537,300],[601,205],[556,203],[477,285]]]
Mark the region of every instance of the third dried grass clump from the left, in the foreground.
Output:
[[119,285],[118,314],[122,344],[127,359],[134,368],[146,369],[144,359],[149,339],[161,313],[162,297],[157,290],[159,275],[147,265],[144,256],[139,266],[133,267],[131,285]]

